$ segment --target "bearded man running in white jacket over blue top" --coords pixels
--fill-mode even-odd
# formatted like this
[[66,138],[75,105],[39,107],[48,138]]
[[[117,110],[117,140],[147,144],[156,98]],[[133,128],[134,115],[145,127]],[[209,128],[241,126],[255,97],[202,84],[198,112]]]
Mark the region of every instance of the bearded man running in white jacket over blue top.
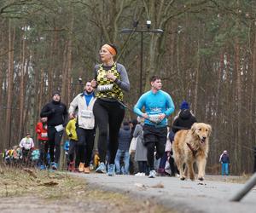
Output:
[[69,117],[74,118],[76,109],[78,109],[77,134],[79,138],[79,158],[81,159],[79,171],[84,171],[87,174],[90,173],[89,165],[96,131],[95,117],[92,112],[95,101],[94,89],[91,87],[91,83],[87,82],[84,92],[73,99],[68,110]]

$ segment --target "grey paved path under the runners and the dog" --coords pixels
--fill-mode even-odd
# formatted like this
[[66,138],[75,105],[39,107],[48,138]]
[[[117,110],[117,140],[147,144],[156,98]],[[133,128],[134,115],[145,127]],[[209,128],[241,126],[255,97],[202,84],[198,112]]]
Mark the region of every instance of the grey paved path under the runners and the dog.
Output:
[[151,179],[141,176],[109,177],[106,174],[93,173],[73,175],[83,176],[90,186],[129,193],[136,199],[154,199],[155,202],[179,212],[256,213],[256,187],[240,202],[229,201],[243,184],[207,180],[180,181],[177,177]]

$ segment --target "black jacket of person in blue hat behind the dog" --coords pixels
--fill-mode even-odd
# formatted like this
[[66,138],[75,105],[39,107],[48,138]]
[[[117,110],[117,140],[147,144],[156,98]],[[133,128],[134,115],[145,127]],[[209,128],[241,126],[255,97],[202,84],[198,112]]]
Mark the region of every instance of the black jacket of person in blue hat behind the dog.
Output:
[[193,116],[188,109],[184,109],[179,112],[177,118],[174,119],[172,131],[176,133],[178,130],[189,130],[195,122],[195,116]]

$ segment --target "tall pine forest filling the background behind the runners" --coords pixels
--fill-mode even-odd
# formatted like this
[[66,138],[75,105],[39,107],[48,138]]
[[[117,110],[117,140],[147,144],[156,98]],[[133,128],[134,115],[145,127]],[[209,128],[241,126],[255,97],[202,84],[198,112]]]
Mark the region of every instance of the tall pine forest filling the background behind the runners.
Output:
[[[150,30],[164,32],[121,32],[147,30],[146,20]],[[101,45],[115,43],[131,82],[127,106],[141,88],[149,89],[150,76],[159,75],[174,114],[186,100],[198,121],[212,125],[208,168],[226,149],[233,174],[252,172],[253,0],[1,0],[0,27],[0,150],[18,144],[26,131],[36,138],[52,92],[59,89],[68,106],[93,77]],[[127,111],[125,118],[136,116]]]

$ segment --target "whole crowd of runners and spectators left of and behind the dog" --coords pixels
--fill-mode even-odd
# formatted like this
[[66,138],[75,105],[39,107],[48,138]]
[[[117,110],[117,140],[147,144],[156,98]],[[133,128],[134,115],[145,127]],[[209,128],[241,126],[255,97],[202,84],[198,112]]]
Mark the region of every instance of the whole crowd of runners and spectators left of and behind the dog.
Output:
[[[20,146],[6,152],[4,158],[8,161],[21,156],[26,163],[27,159],[36,159],[32,156],[37,150],[38,161],[34,161],[41,170],[58,170],[62,136],[66,132],[69,171],[89,174],[94,168],[108,176],[135,174],[154,178],[157,173],[175,176],[178,171],[172,158],[174,135],[178,130],[189,130],[196,122],[189,103],[183,101],[172,128],[167,128],[174,103],[171,95],[161,89],[160,77],[153,76],[151,89],[141,95],[133,108],[137,119],[125,121],[123,101],[130,82],[125,66],[114,60],[117,53],[113,44],[102,45],[99,52],[102,63],[95,66],[94,78],[86,82],[84,91],[73,99],[69,108],[61,102],[59,91],[53,93],[36,126],[38,149],[28,133]],[[96,128],[98,138],[94,149]]]

